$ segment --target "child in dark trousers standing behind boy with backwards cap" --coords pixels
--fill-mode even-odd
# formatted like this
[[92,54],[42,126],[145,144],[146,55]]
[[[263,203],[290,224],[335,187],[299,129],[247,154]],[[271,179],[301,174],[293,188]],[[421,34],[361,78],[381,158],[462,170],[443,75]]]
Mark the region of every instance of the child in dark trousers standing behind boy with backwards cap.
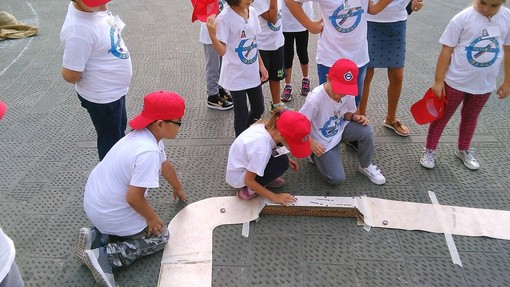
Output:
[[109,0],[73,0],[60,31],[62,77],[74,85],[97,133],[102,160],[126,131],[126,94],[131,58],[122,39],[125,24],[107,7]]

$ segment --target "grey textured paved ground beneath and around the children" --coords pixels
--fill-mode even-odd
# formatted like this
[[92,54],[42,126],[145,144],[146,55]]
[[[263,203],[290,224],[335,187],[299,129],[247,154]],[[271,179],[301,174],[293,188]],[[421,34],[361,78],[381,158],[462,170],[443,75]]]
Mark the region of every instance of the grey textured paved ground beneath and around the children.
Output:
[[[406,78],[399,117],[411,129],[401,138],[381,126],[386,78],[377,71],[369,117],[377,135],[374,162],[388,182],[374,186],[355,171],[356,154],[345,150],[347,182],[329,187],[305,160],[286,175],[281,190],[298,195],[359,196],[508,210],[510,203],[509,102],[491,97],[480,119],[473,148],[482,168],[472,172],[453,154],[458,115],[447,127],[435,170],[418,162],[427,126],[416,125],[410,105],[431,84],[438,39],[448,20],[466,7],[461,0],[427,0],[408,24]],[[80,227],[88,221],[82,193],[97,163],[95,132],[71,85],[60,77],[62,47],[58,34],[67,2],[0,1],[0,10],[40,27],[36,37],[0,42],[0,98],[9,109],[0,122],[0,224],[17,248],[16,261],[27,286],[95,286],[87,268],[73,257]],[[134,78],[128,96],[132,117],[143,95],[174,90],[187,100],[179,139],[167,142],[190,202],[233,195],[223,180],[233,112],[205,104],[204,60],[198,25],[191,24],[189,1],[113,1],[110,10],[127,23]],[[312,37],[311,54],[315,53]],[[313,56],[312,56],[313,59]],[[297,65],[297,63],[296,63]],[[317,84],[315,63],[312,83]],[[299,84],[299,71],[294,84]],[[501,78],[501,77],[500,77]],[[268,88],[265,87],[269,101]],[[298,109],[296,96],[290,107]],[[150,201],[166,221],[184,206],[173,202],[168,185]],[[507,228],[507,227],[498,227]],[[264,216],[252,224],[218,227],[214,235],[214,286],[505,286],[510,282],[510,243],[454,236],[463,268],[452,264],[441,234],[372,229],[354,219]],[[116,271],[121,286],[155,286],[161,253]]]

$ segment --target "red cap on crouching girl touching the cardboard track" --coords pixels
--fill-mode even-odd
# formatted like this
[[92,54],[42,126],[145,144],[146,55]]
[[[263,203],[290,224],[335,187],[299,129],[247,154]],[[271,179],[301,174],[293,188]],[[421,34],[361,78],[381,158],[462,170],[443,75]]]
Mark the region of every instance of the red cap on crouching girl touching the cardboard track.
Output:
[[276,128],[289,144],[290,152],[297,158],[312,153],[310,147],[310,129],[308,118],[296,111],[283,111],[276,120]]

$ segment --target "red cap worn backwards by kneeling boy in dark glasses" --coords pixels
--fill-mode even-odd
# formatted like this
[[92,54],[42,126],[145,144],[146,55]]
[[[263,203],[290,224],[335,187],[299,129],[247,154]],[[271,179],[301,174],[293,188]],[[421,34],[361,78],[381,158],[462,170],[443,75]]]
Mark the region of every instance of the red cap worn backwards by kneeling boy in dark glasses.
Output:
[[140,130],[157,120],[177,120],[184,116],[184,99],[174,92],[152,92],[143,98],[143,110],[129,125]]

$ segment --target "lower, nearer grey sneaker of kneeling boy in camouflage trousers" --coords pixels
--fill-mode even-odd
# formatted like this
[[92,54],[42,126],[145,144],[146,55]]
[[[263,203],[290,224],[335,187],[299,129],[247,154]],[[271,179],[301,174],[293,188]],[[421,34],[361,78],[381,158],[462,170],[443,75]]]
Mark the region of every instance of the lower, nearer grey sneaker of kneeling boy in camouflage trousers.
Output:
[[113,277],[112,266],[104,247],[85,250],[85,265],[92,271],[97,284],[102,287],[118,287]]

